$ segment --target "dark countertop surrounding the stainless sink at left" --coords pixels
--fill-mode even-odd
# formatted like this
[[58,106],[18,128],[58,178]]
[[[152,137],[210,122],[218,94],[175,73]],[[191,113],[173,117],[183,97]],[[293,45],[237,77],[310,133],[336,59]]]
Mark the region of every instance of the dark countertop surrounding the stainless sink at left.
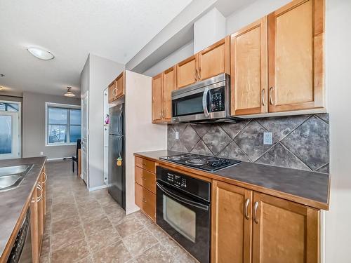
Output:
[[4,252],[6,243],[15,229],[15,224],[20,217],[23,208],[27,204],[28,198],[35,187],[35,183],[40,175],[41,169],[44,167],[46,157],[33,157],[22,159],[1,160],[0,167],[5,166],[22,166],[34,164],[29,170],[27,176],[14,189],[8,191],[0,191],[0,255]]

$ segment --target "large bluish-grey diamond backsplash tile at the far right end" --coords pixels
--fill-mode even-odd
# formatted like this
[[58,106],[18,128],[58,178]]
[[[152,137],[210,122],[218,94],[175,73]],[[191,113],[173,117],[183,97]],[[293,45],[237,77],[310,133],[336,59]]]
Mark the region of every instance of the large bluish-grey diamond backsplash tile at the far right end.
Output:
[[312,170],[329,163],[329,126],[315,116],[285,137],[282,143]]

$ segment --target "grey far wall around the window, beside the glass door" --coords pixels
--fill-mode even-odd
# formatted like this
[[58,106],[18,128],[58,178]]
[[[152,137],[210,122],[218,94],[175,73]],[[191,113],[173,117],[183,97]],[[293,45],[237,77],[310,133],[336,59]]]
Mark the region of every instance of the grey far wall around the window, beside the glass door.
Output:
[[75,154],[74,145],[45,145],[45,102],[80,105],[79,97],[69,98],[41,93],[23,93],[22,103],[22,156],[39,156],[43,151],[48,159],[62,158]]

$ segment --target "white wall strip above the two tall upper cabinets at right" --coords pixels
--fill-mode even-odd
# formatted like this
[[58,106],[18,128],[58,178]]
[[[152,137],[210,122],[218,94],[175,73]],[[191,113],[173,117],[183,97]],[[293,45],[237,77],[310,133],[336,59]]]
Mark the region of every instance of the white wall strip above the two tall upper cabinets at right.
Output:
[[257,0],[245,8],[227,16],[227,34],[232,34],[237,30],[255,22],[279,7],[284,6],[291,0]]

